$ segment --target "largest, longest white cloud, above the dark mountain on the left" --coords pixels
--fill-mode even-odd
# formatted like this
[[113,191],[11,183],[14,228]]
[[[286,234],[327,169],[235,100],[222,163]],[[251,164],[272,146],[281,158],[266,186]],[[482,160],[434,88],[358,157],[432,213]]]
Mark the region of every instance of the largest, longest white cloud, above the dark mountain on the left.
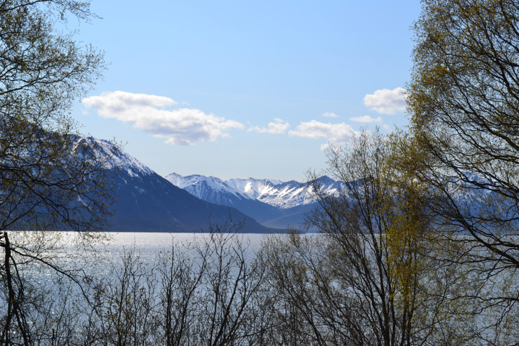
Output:
[[95,108],[104,118],[129,122],[135,128],[166,138],[168,144],[193,145],[196,142],[215,141],[218,137],[228,136],[227,129],[244,128],[240,122],[205,114],[200,109],[165,109],[178,104],[165,96],[114,91],[91,96],[81,102],[87,108]]

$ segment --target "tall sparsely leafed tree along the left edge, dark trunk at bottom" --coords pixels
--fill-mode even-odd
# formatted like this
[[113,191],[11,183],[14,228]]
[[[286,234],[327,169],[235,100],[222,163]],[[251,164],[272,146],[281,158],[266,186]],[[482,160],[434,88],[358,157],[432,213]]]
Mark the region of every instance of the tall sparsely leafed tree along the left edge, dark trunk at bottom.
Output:
[[[7,230],[100,230],[108,209],[105,157],[81,140],[70,116],[72,102],[91,87],[104,67],[102,54],[81,47],[74,33],[57,29],[69,16],[88,20],[88,2],[0,1],[0,274],[7,311],[0,340],[11,330],[31,343],[24,314],[20,266],[43,263],[73,278],[40,244],[10,241]],[[50,244],[52,246],[52,244]],[[25,310],[24,310],[25,309]],[[3,312],[4,313],[4,312]]]

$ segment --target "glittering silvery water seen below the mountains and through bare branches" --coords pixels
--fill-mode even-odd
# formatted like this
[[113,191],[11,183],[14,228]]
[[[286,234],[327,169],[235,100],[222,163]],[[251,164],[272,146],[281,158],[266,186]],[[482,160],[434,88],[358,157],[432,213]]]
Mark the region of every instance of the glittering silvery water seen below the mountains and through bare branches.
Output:
[[[12,233],[12,237],[11,237]],[[167,252],[170,252],[172,250],[172,246],[175,247],[175,253],[184,253],[187,255],[193,255],[192,258],[196,259],[199,258],[196,255],[196,251],[194,251],[193,244],[195,242],[203,243],[204,241],[207,241],[210,239],[211,235],[208,233],[147,233],[147,232],[131,232],[131,233],[109,233],[107,234],[110,236],[110,239],[98,241],[95,243],[91,243],[88,241],[82,242],[80,238],[78,238],[78,235],[75,233],[46,233],[45,237],[43,237],[43,234],[38,233],[29,233],[29,232],[11,232],[9,233],[9,238],[13,240],[14,244],[20,244],[20,241],[23,241],[25,246],[33,246],[35,248],[38,248],[39,245],[42,244],[56,244],[57,246],[55,248],[51,248],[50,246],[48,248],[48,251],[43,251],[47,247],[42,246],[42,252],[40,254],[42,257],[48,259],[49,261],[52,261],[53,263],[62,265],[62,268],[83,268],[85,269],[86,276],[90,276],[94,280],[92,281],[95,283],[108,283],[111,282],[112,286],[105,286],[105,289],[102,291],[102,295],[100,296],[100,303],[98,303],[99,306],[104,307],[105,309],[102,311],[105,315],[108,314],[108,311],[110,309],[114,308],[113,301],[116,301],[114,299],[117,299],[120,297],[119,290],[122,289],[120,278],[121,273],[124,271],[124,254],[127,254],[128,251],[134,253],[134,255],[137,258],[138,262],[141,262],[144,266],[149,266],[150,268],[157,265],[157,261],[160,254],[164,254]],[[218,236],[218,234],[216,235]],[[220,234],[222,237],[228,237],[226,234]],[[247,256],[247,261],[252,262],[252,260],[255,258],[255,253],[259,250],[261,250],[262,243],[265,240],[271,239],[273,237],[271,234],[255,234],[255,233],[240,233],[233,236],[235,242],[227,243],[227,245],[233,246],[236,244],[236,241],[243,244],[245,247],[245,254]],[[313,237],[313,236],[310,236]],[[213,243],[214,244],[214,243]],[[203,246],[203,245],[202,245]],[[192,253],[193,252],[193,253]],[[126,285],[133,285],[129,288],[137,288],[134,290],[129,290],[128,293],[138,292],[143,293],[144,295],[136,296],[138,298],[137,300],[131,301],[131,303],[126,307],[125,309],[135,309],[135,313],[138,313],[139,307],[146,307],[146,303],[152,307],[152,310],[154,313],[157,313],[157,311],[160,311],[161,308],[161,287],[160,287],[160,276],[154,276],[159,275],[159,273],[155,270],[153,272],[153,275],[149,275],[144,277],[144,275],[141,276],[142,273],[147,274],[150,273],[149,271],[144,268],[142,271],[139,271],[139,265],[135,267],[135,276],[132,276],[130,279],[135,279],[134,281],[128,280],[126,281]],[[157,268],[157,267],[155,267]],[[43,270],[42,270],[43,269]],[[39,271],[38,271],[39,270]],[[194,267],[194,272],[196,272],[197,267]],[[74,306],[71,305],[73,301],[69,300],[65,305],[63,295],[63,291],[59,291],[56,288],[52,288],[53,281],[52,276],[56,275],[56,272],[54,272],[49,267],[45,266],[30,266],[29,271],[32,271],[31,273],[27,273],[27,276],[30,276],[36,281],[38,281],[38,285],[41,284],[40,287],[47,287],[50,289],[48,295],[46,297],[51,297],[52,299],[56,300],[58,303],[61,301],[63,306],[66,306],[65,311],[69,311],[67,309],[70,309],[70,311],[76,311],[72,310],[75,309]],[[224,276],[224,278],[233,278],[233,275],[235,275],[236,267],[233,267],[229,270],[229,275]],[[197,287],[196,293],[198,295],[197,299],[194,299],[193,301],[195,303],[198,303],[200,305],[200,302],[207,302],[206,299],[209,297],[209,293],[211,292],[211,280],[213,276],[211,275],[212,272],[209,273],[209,275],[206,277],[207,279],[204,279],[202,284],[200,284]],[[196,275],[195,275],[196,276]],[[514,277],[514,275],[512,275]],[[516,277],[516,276],[515,276]],[[147,278],[147,279],[146,279]],[[154,281],[154,279],[156,279]],[[189,278],[188,278],[189,279]],[[232,281],[232,280],[231,280]],[[148,283],[151,282],[151,285],[148,285]],[[175,283],[178,282],[178,280],[175,277]],[[510,281],[509,281],[510,283]],[[498,285],[499,286],[499,285]],[[513,285],[512,285],[513,286]],[[62,286],[60,286],[62,287]],[[128,286],[126,286],[128,288]],[[89,287],[85,285],[85,289],[88,289]],[[488,287],[488,290],[492,290],[493,287]],[[72,287],[70,292],[73,295],[79,295],[80,292],[77,288],[77,286]],[[97,291],[99,293],[99,291]],[[177,291],[175,291],[177,292]],[[93,291],[86,292],[89,299],[93,300]],[[59,294],[59,295],[58,295]],[[130,295],[128,295],[130,296]],[[125,295],[126,297],[126,295]],[[133,296],[132,296],[133,297]],[[61,299],[61,300],[60,300]],[[132,298],[133,299],[133,298]],[[52,301],[49,303],[49,299],[44,300],[46,303],[48,303],[48,311],[51,312],[51,316],[45,315],[44,313],[40,315],[33,315],[34,317],[31,317],[34,319],[34,323],[36,325],[37,323],[43,323],[41,321],[44,321],[45,319],[54,318],[53,316],[60,316],[62,314],[62,310],[59,310],[60,306],[58,305],[52,305]],[[116,301],[117,302],[117,301]],[[86,308],[88,308],[86,306]],[[207,307],[203,304],[200,306],[197,306],[197,309],[194,309],[193,311],[205,311]],[[206,309],[207,310],[207,309]],[[85,310],[84,310],[85,311]],[[133,311],[133,310],[132,310]],[[0,308],[0,312],[2,312],[2,308]],[[499,312],[499,311],[497,311]],[[515,312],[515,310],[514,310]],[[83,313],[83,314],[80,314]],[[85,334],[87,329],[82,327],[83,323],[86,323],[87,321],[87,315],[88,310],[86,312],[81,312],[79,310],[79,313],[76,313],[77,319],[76,324],[77,327],[75,327],[77,334],[81,335],[81,333]],[[476,324],[484,324],[487,325],[491,321],[495,319],[495,311],[493,310],[486,310],[484,314],[480,315],[479,317],[476,317],[476,319],[473,321]],[[71,316],[69,316],[71,315]],[[66,317],[70,318],[72,320],[73,314],[69,314]],[[107,318],[111,317],[111,315],[108,315],[106,317],[105,315],[101,316],[99,320],[94,321],[95,327],[106,327],[104,326],[104,321],[107,321]],[[40,317],[38,317],[40,316]],[[106,317],[106,318],[105,318]],[[197,316],[198,318],[198,316]],[[108,319],[109,320],[109,319]],[[486,320],[490,321],[487,322]],[[45,320],[46,321],[46,320]],[[135,320],[136,321],[136,320]],[[33,323],[33,320],[29,321],[31,324]],[[74,321],[72,321],[74,322]],[[57,323],[57,322],[56,322]],[[51,330],[51,329],[46,329]],[[511,332],[512,333],[512,332]],[[515,331],[513,333],[516,333]],[[495,332],[493,330],[487,329],[483,331],[483,334],[488,337],[494,337]],[[515,334],[514,334],[515,335]],[[81,343],[78,343],[81,344]]]

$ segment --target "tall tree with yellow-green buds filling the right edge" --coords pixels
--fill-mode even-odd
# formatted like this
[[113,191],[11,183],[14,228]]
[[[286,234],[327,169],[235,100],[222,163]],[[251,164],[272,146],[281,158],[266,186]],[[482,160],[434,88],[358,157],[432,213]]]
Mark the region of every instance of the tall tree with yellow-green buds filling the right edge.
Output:
[[481,278],[497,274],[506,282],[478,299],[516,311],[519,4],[422,3],[407,92],[418,178],[438,197],[439,227],[448,225],[452,240],[464,243],[451,259],[480,263]]

